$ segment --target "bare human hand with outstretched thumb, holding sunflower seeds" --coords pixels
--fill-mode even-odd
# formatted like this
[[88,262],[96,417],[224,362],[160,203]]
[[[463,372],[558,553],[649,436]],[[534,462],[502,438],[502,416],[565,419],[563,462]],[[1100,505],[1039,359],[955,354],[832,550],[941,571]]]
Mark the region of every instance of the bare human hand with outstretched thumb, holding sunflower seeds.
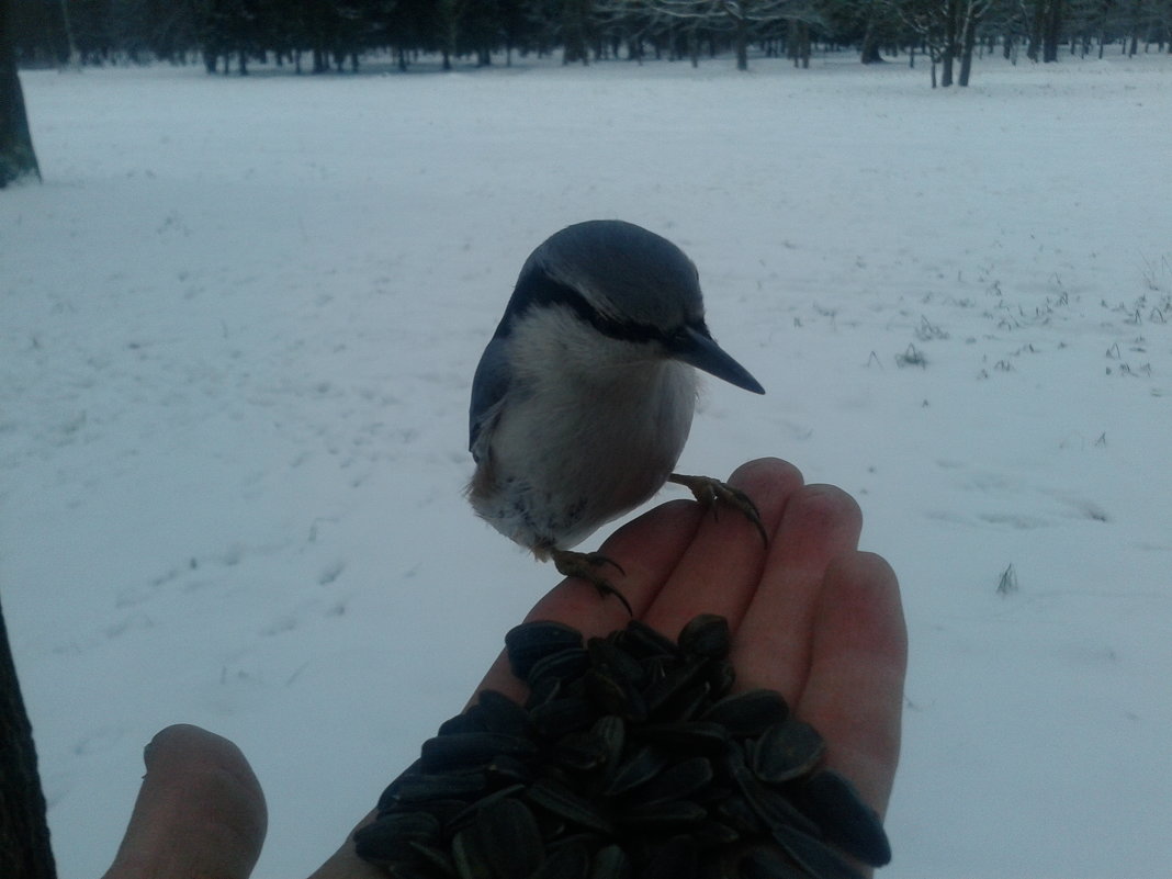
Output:
[[[781,691],[826,741],[826,765],[847,776],[881,815],[899,758],[907,656],[895,575],[878,556],[858,551],[861,516],[845,492],[804,486],[795,468],[775,459],[743,465],[729,483],[757,504],[770,534],[768,547],[740,516],[724,511],[716,518],[699,504],[674,500],[620,529],[601,552],[622,565],[620,585],[635,615],[660,632],[674,638],[699,613],[728,618],[738,687]],[[618,601],[599,600],[592,586],[575,580],[550,592],[527,619],[561,620],[587,636],[628,621]],[[483,688],[515,697],[524,693],[503,655]],[[179,741],[159,742],[175,729],[186,732],[176,736]],[[105,879],[248,874],[264,836],[259,788],[231,743],[197,730],[227,748],[212,747],[209,740],[193,742],[190,762],[197,770],[204,765],[195,777],[206,782],[206,789],[197,785],[192,797],[180,752],[192,729],[171,728],[156,738],[127,837],[162,846],[169,856],[139,854],[120,866],[123,851],[146,851],[124,841]],[[226,762],[209,771],[210,757]],[[164,771],[178,775],[171,778]],[[155,792],[148,796],[149,790]],[[176,820],[171,800],[180,796],[193,799],[189,810],[203,810],[197,820],[190,812],[182,824]],[[143,871],[142,864],[168,868]],[[312,879],[382,875],[360,860],[347,840]]]

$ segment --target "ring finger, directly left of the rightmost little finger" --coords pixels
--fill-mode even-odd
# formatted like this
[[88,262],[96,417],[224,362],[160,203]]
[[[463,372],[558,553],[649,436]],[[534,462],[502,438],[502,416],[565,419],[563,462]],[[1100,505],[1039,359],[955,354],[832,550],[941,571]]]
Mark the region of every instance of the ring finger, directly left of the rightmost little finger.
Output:
[[797,701],[826,566],[856,548],[861,529],[858,504],[832,485],[808,485],[789,498],[761,585],[736,628],[731,659],[743,687],[768,687]]

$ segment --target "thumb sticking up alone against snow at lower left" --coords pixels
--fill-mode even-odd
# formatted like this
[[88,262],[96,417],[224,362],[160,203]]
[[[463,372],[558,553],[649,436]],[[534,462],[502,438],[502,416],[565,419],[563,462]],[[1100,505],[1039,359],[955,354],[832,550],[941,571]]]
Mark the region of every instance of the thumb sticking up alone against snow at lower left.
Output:
[[265,840],[265,797],[226,738],[168,727],[144,751],[146,776],[104,879],[245,879]]

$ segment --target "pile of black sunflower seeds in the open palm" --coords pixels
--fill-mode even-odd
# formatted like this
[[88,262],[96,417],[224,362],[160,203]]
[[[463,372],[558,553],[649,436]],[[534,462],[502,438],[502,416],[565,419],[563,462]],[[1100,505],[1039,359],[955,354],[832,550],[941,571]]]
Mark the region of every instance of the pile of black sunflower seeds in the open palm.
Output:
[[355,833],[398,879],[857,879],[891,849],[781,694],[731,694],[729,627],[632,621],[505,638],[524,706],[485,690]]

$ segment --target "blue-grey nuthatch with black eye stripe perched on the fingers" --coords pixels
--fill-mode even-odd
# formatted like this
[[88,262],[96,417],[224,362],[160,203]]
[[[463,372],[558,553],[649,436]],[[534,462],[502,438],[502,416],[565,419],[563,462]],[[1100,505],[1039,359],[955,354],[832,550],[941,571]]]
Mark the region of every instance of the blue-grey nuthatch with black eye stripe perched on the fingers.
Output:
[[702,370],[754,394],[761,383],[713,339],[700,274],[675,244],[633,223],[575,223],[525,260],[472,377],[466,495],[475,512],[540,561],[632,608],[573,546],[667,482],[741,510],[738,489],[674,472]]

